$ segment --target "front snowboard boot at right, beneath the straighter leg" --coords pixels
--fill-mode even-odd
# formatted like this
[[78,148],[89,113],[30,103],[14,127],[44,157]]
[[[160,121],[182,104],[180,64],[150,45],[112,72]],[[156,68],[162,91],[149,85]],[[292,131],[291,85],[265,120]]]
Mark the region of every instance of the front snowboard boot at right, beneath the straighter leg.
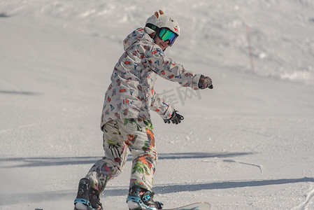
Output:
[[129,196],[127,197],[129,210],[162,209],[164,204],[161,202],[154,202],[152,199],[154,194],[155,193],[152,193],[149,190],[134,186],[129,190]]

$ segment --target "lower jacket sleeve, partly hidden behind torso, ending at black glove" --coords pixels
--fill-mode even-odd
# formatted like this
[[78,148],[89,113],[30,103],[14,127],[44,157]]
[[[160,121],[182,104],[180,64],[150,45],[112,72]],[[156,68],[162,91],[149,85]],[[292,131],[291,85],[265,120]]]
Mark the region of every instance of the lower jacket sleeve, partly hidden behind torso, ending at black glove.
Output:
[[151,99],[152,99],[152,104],[150,105],[150,109],[152,111],[156,111],[159,114],[159,116],[161,116],[164,120],[171,118],[172,113],[174,111],[171,104],[167,103],[155,91],[153,91]]

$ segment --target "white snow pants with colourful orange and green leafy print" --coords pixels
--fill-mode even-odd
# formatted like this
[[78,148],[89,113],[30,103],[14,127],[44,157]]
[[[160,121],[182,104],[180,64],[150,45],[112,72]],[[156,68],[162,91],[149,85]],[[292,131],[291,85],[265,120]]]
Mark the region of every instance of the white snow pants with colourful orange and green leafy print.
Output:
[[133,155],[132,186],[152,191],[153,174],[157,164],[155,139],[150,120],[119,119],[104,125],[105,156],[97,161],[85,178],[101,193],[106,183],[121,174],[128,152]]

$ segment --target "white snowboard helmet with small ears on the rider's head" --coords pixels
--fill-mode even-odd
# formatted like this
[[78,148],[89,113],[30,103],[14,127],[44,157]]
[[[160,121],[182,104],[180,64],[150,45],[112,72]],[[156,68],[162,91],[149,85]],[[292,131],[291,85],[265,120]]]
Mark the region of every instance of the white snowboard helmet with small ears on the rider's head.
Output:
[[167,28],[173,31],[173,33],[180,36],[180,27],[179,23],[176,19],[171,18],[167,15],[164,15],[162,10],[155,12],[154,15],[150,16],[148,20],[146,20],[145,31],[148,34],[152,34],[155,32],[155,27],[160,28]]

